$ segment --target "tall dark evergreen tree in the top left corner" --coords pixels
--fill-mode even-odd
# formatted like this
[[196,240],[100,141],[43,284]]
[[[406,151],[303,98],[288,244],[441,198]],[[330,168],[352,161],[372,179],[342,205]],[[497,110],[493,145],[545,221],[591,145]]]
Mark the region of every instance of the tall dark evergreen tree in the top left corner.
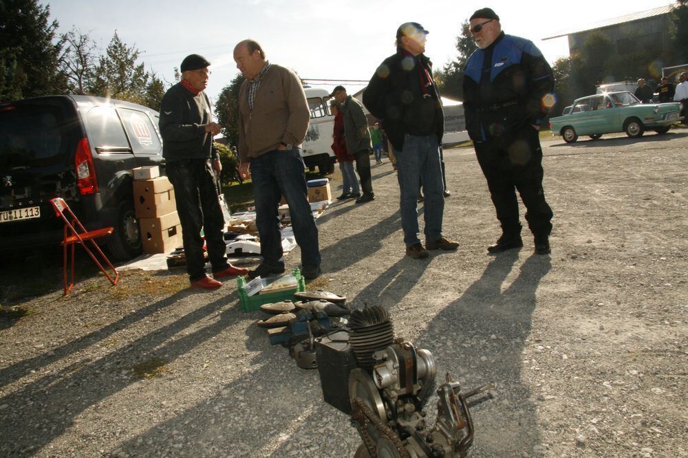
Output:
[[0,0],[0,101],[65,90],[57,28],[50,7],[37,0]]

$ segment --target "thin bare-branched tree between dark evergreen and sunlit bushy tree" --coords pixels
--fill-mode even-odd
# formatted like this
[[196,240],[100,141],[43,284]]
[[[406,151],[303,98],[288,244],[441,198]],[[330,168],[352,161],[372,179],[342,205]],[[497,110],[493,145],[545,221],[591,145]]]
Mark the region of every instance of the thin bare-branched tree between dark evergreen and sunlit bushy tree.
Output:
[[67,78],[67,90],[70,94],[89,94],[89,88],[95,85],[96,43],[76,27],[63,34],[61,39],[65,43],[61,65]]

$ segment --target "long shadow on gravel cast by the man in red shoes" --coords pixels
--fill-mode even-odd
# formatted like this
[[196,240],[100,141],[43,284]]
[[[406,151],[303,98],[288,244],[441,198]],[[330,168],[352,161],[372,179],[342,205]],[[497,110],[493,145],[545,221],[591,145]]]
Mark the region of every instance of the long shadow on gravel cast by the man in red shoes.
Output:
[[[41,367],[65,354],[92,345],[112,331],[122,329],[127,323],[140,320],[153,311],[170,305],[182,295],[177,294],[145,307],[144,312],[137,312],[108,326],[107,331],[89,334],[87,338],[66,345],[63,349],[57,349],[53,356],[34,358],[30,364],[32,367]],[[195,309],[175,322],[156,329],[103,358],[76,363],[61,371],[47,373],[14,393],[0,398],[0,405],[6,406],[3,410],[5,417],[0,433],[0,455],[17,456],[38,452],[62,435],[72,425],[74,418],[87,408],[96,406],[107,397],[138,381],[133,373],[127,371],[128,368],[151,358],[160,358],[166,363],[172,362],[217,336],[241,316],[222,314],[221,319],[213,321],[213,324],[207,327],[190,334],[182,334],[182,331],[236,301],[237,294],[233,292]],[[26,368],[23,367],[23,371]],[[6,380],[5,375],[0,375],[0,378]],[[81,386],[96,388],[85,391],[80,388]]]

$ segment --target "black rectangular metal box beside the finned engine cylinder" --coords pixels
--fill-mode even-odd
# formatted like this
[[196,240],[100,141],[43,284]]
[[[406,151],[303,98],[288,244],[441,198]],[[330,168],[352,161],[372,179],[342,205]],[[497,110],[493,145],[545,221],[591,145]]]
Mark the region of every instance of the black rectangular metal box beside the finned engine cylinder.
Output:
[[316,338],[315,352],[323,399],[338,411],[351,415],[349,374],[356,369],[356,356],[349,342],[349,331],[342,329]]

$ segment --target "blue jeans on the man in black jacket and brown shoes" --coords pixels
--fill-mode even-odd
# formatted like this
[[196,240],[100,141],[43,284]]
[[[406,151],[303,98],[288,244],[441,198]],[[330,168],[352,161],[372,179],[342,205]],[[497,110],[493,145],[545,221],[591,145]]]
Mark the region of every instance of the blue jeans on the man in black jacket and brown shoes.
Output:
[[425,239],[436,241],[442,237],[444,213],[444,186],[440,148],[436,135],[404,135],[404,147],[394,151],[399,179],[401,228],[406,246],[420,242],[418,239],[418,196],[423,186],[423,217]]

